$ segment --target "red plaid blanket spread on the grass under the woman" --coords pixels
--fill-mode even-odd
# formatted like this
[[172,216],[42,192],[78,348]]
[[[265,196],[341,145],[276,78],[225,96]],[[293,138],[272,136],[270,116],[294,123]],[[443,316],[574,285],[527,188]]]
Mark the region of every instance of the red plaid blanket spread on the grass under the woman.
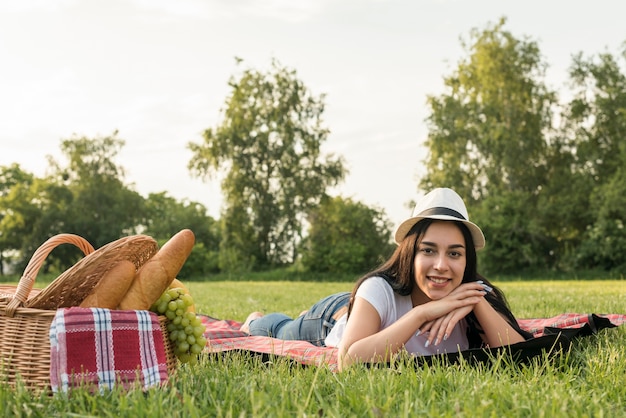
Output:
[[[219,353],[227,351],[248,351],[253,353],[288,357],[307,365],[326,364],[331,370],[337,370],[337,350],[331,347],[317,347],[307,341],[285,341],[271,337],[248,336],[239,330],[240,322],[221,320],[202,315],[206,326],[206,352]],[[605,323],[601,327],[618,326],[626,322],[626,315],[590,315],[578,313],[564,313],[551,318],[520,319],[520,327],[541,337],[548,328],[575,329],[583,326],[595,327],[594,317],[606,318],[610,325]],[[594,330],[594,332],[597,330]]]

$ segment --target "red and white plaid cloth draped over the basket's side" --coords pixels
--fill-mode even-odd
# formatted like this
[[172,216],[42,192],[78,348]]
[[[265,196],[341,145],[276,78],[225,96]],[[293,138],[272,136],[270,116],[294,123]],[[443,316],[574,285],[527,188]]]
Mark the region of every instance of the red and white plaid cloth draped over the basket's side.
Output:
[[50,384],[67,391],[116,384],[143,388],[167,380],[163,333],[156,314],[100,308],[59,309],[50,325]]

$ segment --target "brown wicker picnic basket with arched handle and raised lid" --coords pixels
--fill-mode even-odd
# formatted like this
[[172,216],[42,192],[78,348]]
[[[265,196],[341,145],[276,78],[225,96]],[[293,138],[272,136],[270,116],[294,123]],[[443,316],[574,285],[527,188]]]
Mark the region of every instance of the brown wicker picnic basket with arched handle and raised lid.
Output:
[[[80,261],[44,289],[35,289],[35,279],[50,252],[61,244],[73,244],[85,254]],[[14,386],[18,380],[31,389],[50,388],[50,324],[58,308],[78,306],[99,280],[119,260],[129,260],[139,269],[158,250],[146,235],[113,241],[98,250],[84,238],[59,234],[33,254],[17,286],[0,286],[0,381]],[[167,337],[166,320],[159,317],[168,372],[176,357]]]

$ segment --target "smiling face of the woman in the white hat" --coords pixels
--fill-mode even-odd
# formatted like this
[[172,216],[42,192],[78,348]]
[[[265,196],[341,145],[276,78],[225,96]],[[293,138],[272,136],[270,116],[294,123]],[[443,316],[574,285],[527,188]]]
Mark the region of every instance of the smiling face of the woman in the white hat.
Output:
[[465,254],[461,230],[453,222],[433,222],[415,254],[415,283],[419,293],[437,300],[456,289],[463,280]]

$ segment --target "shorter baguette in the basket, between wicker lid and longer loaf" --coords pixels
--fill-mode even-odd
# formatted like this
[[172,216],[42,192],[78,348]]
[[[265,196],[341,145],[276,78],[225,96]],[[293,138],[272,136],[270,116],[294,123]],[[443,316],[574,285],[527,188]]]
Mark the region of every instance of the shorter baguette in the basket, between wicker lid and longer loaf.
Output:
[[135,265],[128,260],[115,264],[80,303],[81,308],[115,309],[135,278]]

